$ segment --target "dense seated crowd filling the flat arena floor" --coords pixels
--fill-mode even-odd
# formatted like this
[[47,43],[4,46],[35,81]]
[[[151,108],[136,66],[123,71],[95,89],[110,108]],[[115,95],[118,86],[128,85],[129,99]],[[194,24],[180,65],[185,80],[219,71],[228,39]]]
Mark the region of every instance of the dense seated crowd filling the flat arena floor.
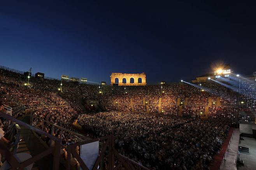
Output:
[[217,118],[119,111],[83,114],[78,121],[92,138],[114,134],[119,153],[154,170],[207,169],[229,129],[228,120]]

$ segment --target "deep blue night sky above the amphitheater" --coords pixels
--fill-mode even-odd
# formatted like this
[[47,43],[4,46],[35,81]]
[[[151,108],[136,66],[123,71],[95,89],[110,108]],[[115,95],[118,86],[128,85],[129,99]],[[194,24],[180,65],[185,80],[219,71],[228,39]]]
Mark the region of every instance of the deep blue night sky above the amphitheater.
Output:
[[47,77],[149,84],[191,80],[216,63],[256,71],[256,1],[0,1],[0,65]]

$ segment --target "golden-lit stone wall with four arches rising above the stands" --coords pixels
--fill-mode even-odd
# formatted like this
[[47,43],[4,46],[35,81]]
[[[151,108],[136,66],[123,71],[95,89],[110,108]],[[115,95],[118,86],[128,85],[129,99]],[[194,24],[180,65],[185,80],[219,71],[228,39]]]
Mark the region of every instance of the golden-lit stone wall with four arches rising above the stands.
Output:
[[[117,81],[118,80],[118,81]],[[117,83],[118,86],[146,86],[146,74],[112,73],[110,76],[111,86]]]

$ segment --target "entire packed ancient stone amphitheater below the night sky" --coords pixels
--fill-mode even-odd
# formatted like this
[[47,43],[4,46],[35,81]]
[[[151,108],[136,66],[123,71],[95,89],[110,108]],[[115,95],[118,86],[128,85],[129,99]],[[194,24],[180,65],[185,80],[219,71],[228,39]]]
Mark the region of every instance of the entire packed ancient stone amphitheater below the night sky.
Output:
[[[133,82],[112,86],[124,76]],[[1,169],[217,170],[243,163],[249,147],[238,142],[256,135],[254,80],[238,81],[238,91],[210,79],[198,88],[131,76],[115,73],[110,85],[94,85],[28,78],[2,66]]]

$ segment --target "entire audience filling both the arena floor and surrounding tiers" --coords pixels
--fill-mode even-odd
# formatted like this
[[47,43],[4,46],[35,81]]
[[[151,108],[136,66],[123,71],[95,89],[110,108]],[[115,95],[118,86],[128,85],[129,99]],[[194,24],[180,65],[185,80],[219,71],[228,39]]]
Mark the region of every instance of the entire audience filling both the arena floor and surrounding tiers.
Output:
[[[239,93],[215,82],[202,82],[204,91],[184,83],[114,87],[34,77],[29,84],[26,82],[24,75],[0,69],[0,94],[5,103],[22,103],[30,108],[44,105],[35,112],[35,127],[49,133],[50,126],[43,124],[44,119],[74,130],[72,123],[78,119],[88,136],[114,134],[121,154],[154,170],[207,169],[228,132],[230,120],[237,117],[238,110],[254,111],[256,103],[255,84],[248,81],[241,82]],[[205,112],[209,97],[216,102],[221,97],[221,106],[209,106],[210,118],[200,120],[198,116]],[[184,117],[177,117],[177,98],[187,99],[182,106]],[[86,113],[80,106],[81,99],[96,100],[107,112]],[[238,107],[238,101],[244,105]],[[245,116],[240,120],[253,122]],[[61,134],[60,129],[53,134],[62,135],[63,144],[75,141],[68,132]],[[53,146],[46,137],[42,139]]]

